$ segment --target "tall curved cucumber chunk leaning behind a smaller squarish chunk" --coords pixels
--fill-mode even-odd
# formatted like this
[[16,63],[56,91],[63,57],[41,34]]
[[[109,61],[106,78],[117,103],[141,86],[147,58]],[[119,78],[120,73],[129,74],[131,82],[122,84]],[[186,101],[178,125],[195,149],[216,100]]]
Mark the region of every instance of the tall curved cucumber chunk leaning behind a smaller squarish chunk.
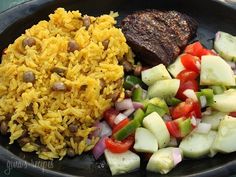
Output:
[[170,142],[170,133],[158,113],[153,112],[143,119],[143,126],[156,137],[158,147],[163,148]]

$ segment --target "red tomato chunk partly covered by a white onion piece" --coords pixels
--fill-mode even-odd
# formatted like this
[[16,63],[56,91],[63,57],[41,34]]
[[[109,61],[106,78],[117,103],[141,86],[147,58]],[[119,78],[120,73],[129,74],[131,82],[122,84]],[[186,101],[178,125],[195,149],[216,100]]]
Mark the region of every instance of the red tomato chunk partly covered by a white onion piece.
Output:
[[179,90],[176,94],[176,98],[179,98],[183,101],[187,99],[187,97],[183,94],[183,92],[187,89],[192,89],[194,92],[198,91],[198,83],[196,80],[188,80],[184,83],[180,83]]

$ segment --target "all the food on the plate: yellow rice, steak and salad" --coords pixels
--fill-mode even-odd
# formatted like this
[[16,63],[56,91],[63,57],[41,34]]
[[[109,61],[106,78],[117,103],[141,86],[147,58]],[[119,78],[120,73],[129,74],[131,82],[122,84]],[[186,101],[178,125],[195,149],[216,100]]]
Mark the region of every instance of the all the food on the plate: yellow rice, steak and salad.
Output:
[[0,133],[45,160],[104,154],[112,175],[236,151],[235,37],[218,32],[215,52],[189,44],[197,23],[187,15],[139,11],[122,30],[117,15],[59,8],[9,45]]

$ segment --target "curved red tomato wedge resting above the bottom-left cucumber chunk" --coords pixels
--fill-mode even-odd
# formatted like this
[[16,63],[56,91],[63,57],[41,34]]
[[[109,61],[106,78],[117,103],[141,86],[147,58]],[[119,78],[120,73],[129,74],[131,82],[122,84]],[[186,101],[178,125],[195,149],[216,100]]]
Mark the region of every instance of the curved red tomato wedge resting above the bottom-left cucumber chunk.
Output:
[[106,148],[113,153],[122,153],[130,149],[134,143],[134,136],[129,136],[123,141],[117,141],[112,138],[105,139]]

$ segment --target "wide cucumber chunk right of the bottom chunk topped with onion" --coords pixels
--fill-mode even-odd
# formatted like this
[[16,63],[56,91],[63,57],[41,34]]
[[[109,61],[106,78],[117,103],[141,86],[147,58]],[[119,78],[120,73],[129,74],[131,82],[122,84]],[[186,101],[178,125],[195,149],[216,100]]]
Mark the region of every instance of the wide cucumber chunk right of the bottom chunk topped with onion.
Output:
[[217,132],[212,130],[207,134],[192,131],[181,141],[179,147],[182,149],[185,157],[200,158],[209,154],[216,134]]

